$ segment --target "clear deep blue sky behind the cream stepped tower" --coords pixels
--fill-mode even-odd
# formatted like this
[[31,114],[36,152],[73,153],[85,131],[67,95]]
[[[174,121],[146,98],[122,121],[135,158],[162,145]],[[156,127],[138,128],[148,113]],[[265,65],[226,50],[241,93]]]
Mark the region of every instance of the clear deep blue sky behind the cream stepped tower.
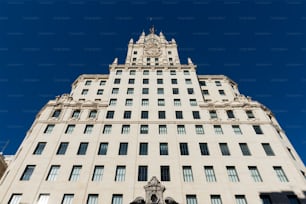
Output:
[[273,111],[306,161],[306,2],[0,0],[0,151],[14,154],[38,111],[80,74],[123,63],[154,24],[182,63],[224,74]]

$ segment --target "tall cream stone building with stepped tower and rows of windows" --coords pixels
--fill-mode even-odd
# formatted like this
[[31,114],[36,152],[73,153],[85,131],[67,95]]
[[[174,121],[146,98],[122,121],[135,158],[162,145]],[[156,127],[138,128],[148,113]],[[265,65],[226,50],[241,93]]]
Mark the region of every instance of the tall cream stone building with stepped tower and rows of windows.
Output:
[[142,33],[109,68],[41,109],[0,203],[306,202],[305,166],[271,111],[181,64],[174,39]]

